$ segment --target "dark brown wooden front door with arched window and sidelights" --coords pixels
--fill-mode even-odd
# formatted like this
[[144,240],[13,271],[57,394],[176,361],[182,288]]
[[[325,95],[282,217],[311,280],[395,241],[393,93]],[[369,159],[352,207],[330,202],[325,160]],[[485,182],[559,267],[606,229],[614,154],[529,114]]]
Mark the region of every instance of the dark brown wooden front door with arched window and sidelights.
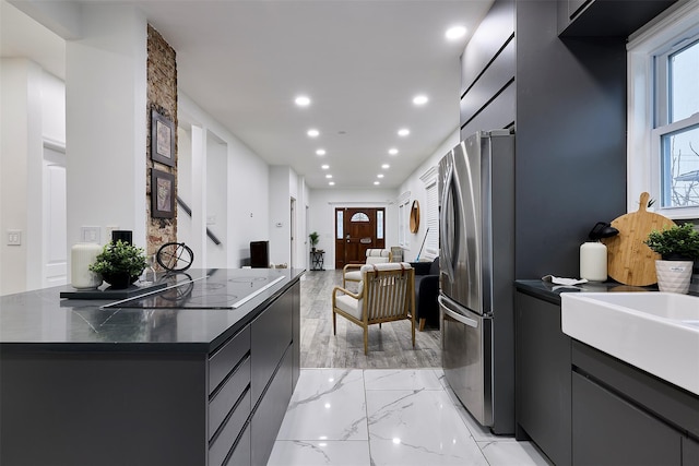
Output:
[[386,248],[382,207],[335,208],[335,268],[364,264],[367,249]]

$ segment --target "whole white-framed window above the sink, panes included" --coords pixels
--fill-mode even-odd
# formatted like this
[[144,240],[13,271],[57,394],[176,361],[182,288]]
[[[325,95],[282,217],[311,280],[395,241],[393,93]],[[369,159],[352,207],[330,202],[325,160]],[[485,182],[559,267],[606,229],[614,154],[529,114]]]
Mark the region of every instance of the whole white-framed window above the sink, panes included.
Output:
[[699,218],[699,4],[671,8],[630,37],[627,210]]

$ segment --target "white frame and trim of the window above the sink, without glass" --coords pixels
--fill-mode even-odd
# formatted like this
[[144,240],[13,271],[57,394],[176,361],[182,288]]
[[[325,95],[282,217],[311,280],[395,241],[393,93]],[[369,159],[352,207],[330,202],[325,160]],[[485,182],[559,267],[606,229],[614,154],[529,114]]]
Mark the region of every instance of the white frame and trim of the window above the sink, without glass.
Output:
[[[699,33],[699,2],[671,7],[631,37],[628,51],[628,143],[627,143],[627,212],[639,208],[642,192],[660,199],[660,138],[668,132],[654,131],[654,60],[667,48]],[[695,115],[690,119],[697,119]],[[691,122],[690,122],[691,124]],[[690,126],[689,124],[689,126]],[[662,208],[655,212],[673,219],[699,218],[699,207]]]

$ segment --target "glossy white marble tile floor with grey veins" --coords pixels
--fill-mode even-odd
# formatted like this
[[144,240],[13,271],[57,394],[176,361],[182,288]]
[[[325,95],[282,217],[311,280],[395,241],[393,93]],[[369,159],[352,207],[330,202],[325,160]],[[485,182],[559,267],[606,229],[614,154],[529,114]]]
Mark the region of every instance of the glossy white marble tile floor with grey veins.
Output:
[[550,465],[481,427],[441,369],[301,369],[268,466]]

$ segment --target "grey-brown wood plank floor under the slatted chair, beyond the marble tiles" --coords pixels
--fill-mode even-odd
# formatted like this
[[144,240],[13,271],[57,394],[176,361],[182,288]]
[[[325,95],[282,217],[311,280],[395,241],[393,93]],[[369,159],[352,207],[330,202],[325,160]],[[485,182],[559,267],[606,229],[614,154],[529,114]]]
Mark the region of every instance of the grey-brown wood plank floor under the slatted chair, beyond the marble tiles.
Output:
[[[436,328],[415,330],[411,345],[408,321],[369,327],[369,354],[364,355],[362,327],[337,318],[332,334],[331,295],[342,285],[342,271],[308,271],[301,277],[301,367],[407,369],[441,367],[441,334]],[[417,327],[417,325],[416,325]]]

